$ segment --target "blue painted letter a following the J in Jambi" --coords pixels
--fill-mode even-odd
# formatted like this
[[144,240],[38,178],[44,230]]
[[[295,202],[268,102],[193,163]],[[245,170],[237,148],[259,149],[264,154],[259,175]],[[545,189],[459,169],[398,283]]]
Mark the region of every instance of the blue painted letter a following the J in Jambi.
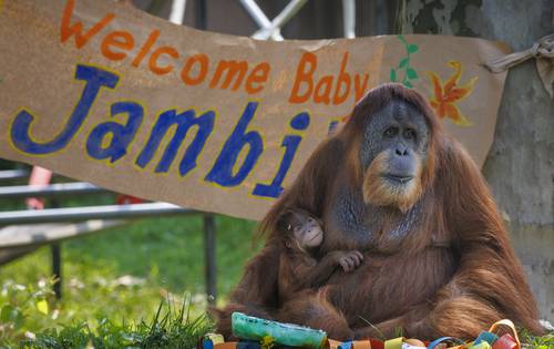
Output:
[[[133,142],[133,137],[141,126],[144,110],[141,104],[135,102],[117,102],[112,104],[112,117],[117,114],[129,114],[125,125],[109,121],[92,130],[89,140],[86,140],[86,152],[91,157],[110,158],[110,162],[114,163],[127,153],[127,146]],[[102,141],[109,133],[112,134],[110,145],[103,147]]]

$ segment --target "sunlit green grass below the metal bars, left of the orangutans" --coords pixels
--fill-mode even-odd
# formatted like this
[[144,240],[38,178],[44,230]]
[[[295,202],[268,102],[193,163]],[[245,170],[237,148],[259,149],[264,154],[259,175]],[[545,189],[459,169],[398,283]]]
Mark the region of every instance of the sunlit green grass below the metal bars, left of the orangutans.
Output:
[[[65,206],[111,202],[112,196],[103,195],[71,201]],[[23,208],[22,204],[1,205],[2,211]],[[254,222],[226,216],[215,219],[217,294],[218,304],[224,304],[244,264],[259,246],[252,244]],[[50,291],[49,247],[0,268],[0,311],[8,306],[3,319],[0,314],[0,348],[2,345],[13,347],[32,337],[37,341],[44,339],[45,343],[57,336],[63,338],[70,333],[80,333],[75,336],[98,342],[105,337],[102,333],[117,328],[122,333],[144,337],[144,329],[152,327],[148,321],[166,299],[176,304],[187,299],[188,316],[205,320],[202,215],[135,220],[124,227],[66,240],[61,246],[61,301]],[[40,311],[40,305],[44,304],[48,310]],[[83,335],[88,332],[95,337]],[[170,330],[168,333],[175,332]]]

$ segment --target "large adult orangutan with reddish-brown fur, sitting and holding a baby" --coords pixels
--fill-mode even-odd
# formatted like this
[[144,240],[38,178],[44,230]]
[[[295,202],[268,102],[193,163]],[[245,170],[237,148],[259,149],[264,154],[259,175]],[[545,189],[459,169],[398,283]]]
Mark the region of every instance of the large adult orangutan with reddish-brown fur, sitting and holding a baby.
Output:
[[[283,301],[277,220],[304,209],[325,227],[320,256],[359,250],[311,292]],[[510,318],[542,331],[529,285],[492,195],[463,147],[424,99],[400,84],[371,90],[345,127],[311,155],[261,223],[266,247],[218,311],[229,333],[239,310],[320,328],[338,339],[475,338]],[[372,324],[375,327],[369,326]]]

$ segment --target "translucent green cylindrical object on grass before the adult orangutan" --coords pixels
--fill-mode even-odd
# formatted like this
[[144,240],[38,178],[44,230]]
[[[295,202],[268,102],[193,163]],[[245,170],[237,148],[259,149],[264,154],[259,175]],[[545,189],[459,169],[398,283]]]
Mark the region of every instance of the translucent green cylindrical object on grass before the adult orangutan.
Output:
[[302,348],[321,348],[327,333],[291,324],[265,320],[242,312],[233,312],[230,317],[233,335],[240,339],[273,341],[277,345]]

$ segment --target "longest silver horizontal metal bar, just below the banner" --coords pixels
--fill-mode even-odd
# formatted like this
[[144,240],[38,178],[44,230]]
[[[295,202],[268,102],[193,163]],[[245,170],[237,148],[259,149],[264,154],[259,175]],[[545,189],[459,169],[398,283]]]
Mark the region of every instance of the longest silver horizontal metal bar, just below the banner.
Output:
[[143,218],[147,216],[158,217],[194,213],[196,213],[196,211],[167,203],[12,211],[0,212],[0,226],[10,224],[78,222],[86,219]]

